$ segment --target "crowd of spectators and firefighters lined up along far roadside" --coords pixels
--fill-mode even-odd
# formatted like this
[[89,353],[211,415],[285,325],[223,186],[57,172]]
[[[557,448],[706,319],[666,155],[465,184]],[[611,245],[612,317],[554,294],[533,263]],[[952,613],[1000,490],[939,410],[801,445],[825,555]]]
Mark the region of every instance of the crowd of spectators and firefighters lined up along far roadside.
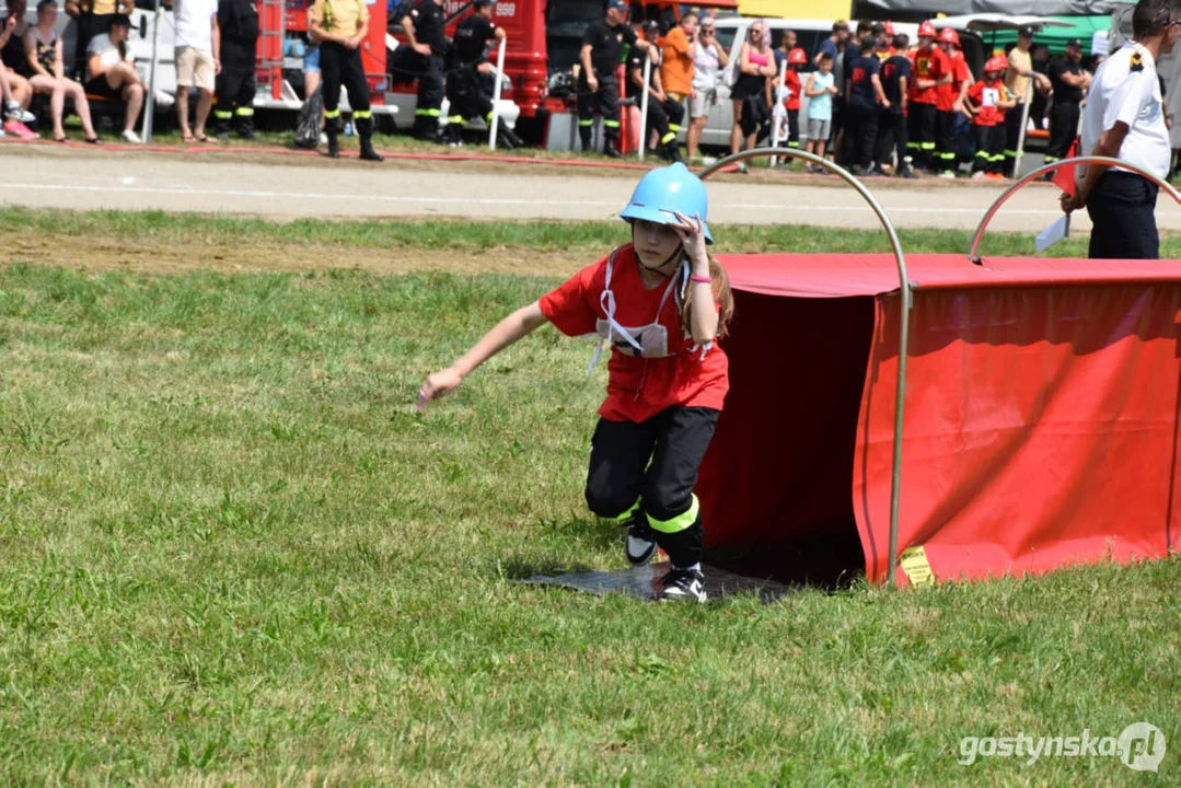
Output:
[[[139,142],[135,128],[146,89],[128,44],[132,0],[67,0],[65,11],[76,19],[78,32],[77,57],[70,64],[54,32],[57,0],[38,2],[35,24],[26,21],[27,1],[8,0],[0,27],[4,130],[35,136],[27,124],[44,115],[53,138],[64,142],[63,119],[72,108],[83,139],[98,142],[92,111],[99,103],[116,108],[124,141]],[[255,2],[165,5],[175,12],[175,108],[183,141],[211,142],[210,115],[216,138],[228,139],[236,131],[253,139],[260,34]],[[442,0],[413,0],[402,7],[396,18],[410,43],[398,48],[390,65],[396,79],[418,84],[416,136],[455,143],[463,123],[491,117],[487,45],[502,39],[504,31],[491,22],[492,2],[476,0],[475,12],[450,41],[441,5]],[[1084,63],[1082,43],[1072,40],[1051,61],[1049,50],[1033,44],[1035,32],[1023,28],[1007,56],[986,58],[980,73],[973,74],[957,31],[938,30],[933,21],[922,22],[914,41],[890,22],[850,27],[839,21],[815,52],[805,52],[796,46],[792,31],[782,31],[772,48],[771,26],[756,19],[746,26],[744,40],[727,51],[718,43],[712,17],[690,11],[679,19],[629,20],[629,12],[625,0],[609,0],[603,19],[585,30],[574,79],[583,150],[598,149],[592,132],[601,117],[601,150],[620,156],[621,106],[645,104],[641,144],[667,161],[681,161],[684,129],[687,157],[697,159],[711,111],[729,92],[731,152],[774,141],[785,148],[803,144],[856,175],[955,177],[970,159],[972,177],[1011,177],[1025,103],[1032,126],[1048,129],[1046,159],[1065,157],[1100,60]],[[318,115],[321,124],[327,121],[326,138],[318,139],[317,133],[313,141],[328,142],[329,155],[339,155],[338,102],[345,90],[364,157],[380,161],[368,142],[373,124],[357,48],[367,31],[365,7],[317,0],[309,20],[306,90],[312,95],[322,85],[324,109]],[[615,76],[621,61],[622,84]],[[190,90],[196,91],[191,115]],[[441,110],[444,96],[451,105],[448,118]],[[502,131],[501,142],[509,148],[522,144],[509,129]],[[824,171],[811,164],[807,169]]]

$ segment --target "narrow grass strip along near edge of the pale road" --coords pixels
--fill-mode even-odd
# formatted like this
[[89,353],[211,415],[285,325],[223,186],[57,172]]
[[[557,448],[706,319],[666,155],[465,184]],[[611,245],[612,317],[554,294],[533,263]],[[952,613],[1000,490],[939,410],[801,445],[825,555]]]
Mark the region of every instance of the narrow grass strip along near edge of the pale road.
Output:
[[[169,214],[164,211],[66,211],[11,208],[0,211],[0,233],[41,236],[142,239],[174,245],[240,245],[243,239],[267,245],[333,245],[363,248],[407,247],[478,252],[496,247],[574,252],[592,255],[626,240],[618,221],[495,221],[387,220],[324,221],[300,219],[279,223],[240,216]],[[718,253],[887,253],[877,230],[828,230],[798,224],[726,224],[716,228]],[[900,230],[907,254],[966,254],[972,234],[966,230]],[[1046,256],[1087,256],[1087,237],[1068,239]],[[981,253],[1033,256],[1033,237],[1014,233],[990,234]],[[1161,256],[1181,258],[1181,236],[1161,239]]]

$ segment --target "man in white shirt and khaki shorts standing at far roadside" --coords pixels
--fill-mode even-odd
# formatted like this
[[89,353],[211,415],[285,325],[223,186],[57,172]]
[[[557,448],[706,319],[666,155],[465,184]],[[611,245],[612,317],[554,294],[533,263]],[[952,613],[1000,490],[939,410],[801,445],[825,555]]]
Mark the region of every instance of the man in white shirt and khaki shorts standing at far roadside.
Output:
[[[209,142],[205,121],[221,71],[217,0],[174,0],[176,12],[176,119],[184,142]],[[197,89],[197,117],[189,130],[189,87]]]

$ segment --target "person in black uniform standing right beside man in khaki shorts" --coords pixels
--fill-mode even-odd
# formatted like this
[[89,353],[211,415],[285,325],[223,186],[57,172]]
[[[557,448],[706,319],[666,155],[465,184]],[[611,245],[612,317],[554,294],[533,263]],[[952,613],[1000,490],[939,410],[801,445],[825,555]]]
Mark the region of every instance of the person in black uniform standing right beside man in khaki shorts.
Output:
[[235,125],[242,139],[257,139],[254,136],[254,56],[259,43],[259,7],[254,0],[221,0],[217,27],[221,30],[222,65],[215,86],[217,138],[228,141],[230,125]]

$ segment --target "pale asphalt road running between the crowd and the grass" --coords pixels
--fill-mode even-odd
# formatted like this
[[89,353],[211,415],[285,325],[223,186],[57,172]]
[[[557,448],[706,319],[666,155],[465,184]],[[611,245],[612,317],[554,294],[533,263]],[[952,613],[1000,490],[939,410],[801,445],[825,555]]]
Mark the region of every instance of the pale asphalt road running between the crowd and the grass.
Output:
[[[530,165],[413,162],[380,165],[282,155],[115,152],[0,144],[0,203],[31,208],[300,216],[469,216],[472,219],[608,219],[626,203],[637,171],[614,175]],[[869,180],[898,227],[973,229],[1000,195],[996,183]],[[1017,193],[994,230],[1036,233],[1061,216],[1057,189]],[[1161,200],[1162,229],[1181,232],[1181,211]],[[833,177],[776,183],[729,176],[710,184],[713,223],[798,223],[874,228],[861,196]],[[1087,217],[1075,228],[1089,229]]]

